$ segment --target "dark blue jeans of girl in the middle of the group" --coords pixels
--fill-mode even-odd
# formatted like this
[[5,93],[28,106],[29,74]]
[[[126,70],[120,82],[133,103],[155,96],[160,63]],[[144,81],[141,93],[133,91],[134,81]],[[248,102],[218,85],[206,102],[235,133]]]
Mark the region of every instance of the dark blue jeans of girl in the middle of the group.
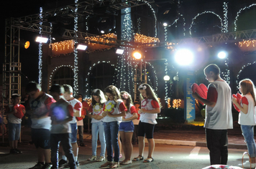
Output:
[[118,132],[119,124],[115,122],[104,122],[104,131],[106,139],[106,153],[107,160],[113,160],[112,146],[114,148],[114,162],[119,162],[119,145],[118,145]]

